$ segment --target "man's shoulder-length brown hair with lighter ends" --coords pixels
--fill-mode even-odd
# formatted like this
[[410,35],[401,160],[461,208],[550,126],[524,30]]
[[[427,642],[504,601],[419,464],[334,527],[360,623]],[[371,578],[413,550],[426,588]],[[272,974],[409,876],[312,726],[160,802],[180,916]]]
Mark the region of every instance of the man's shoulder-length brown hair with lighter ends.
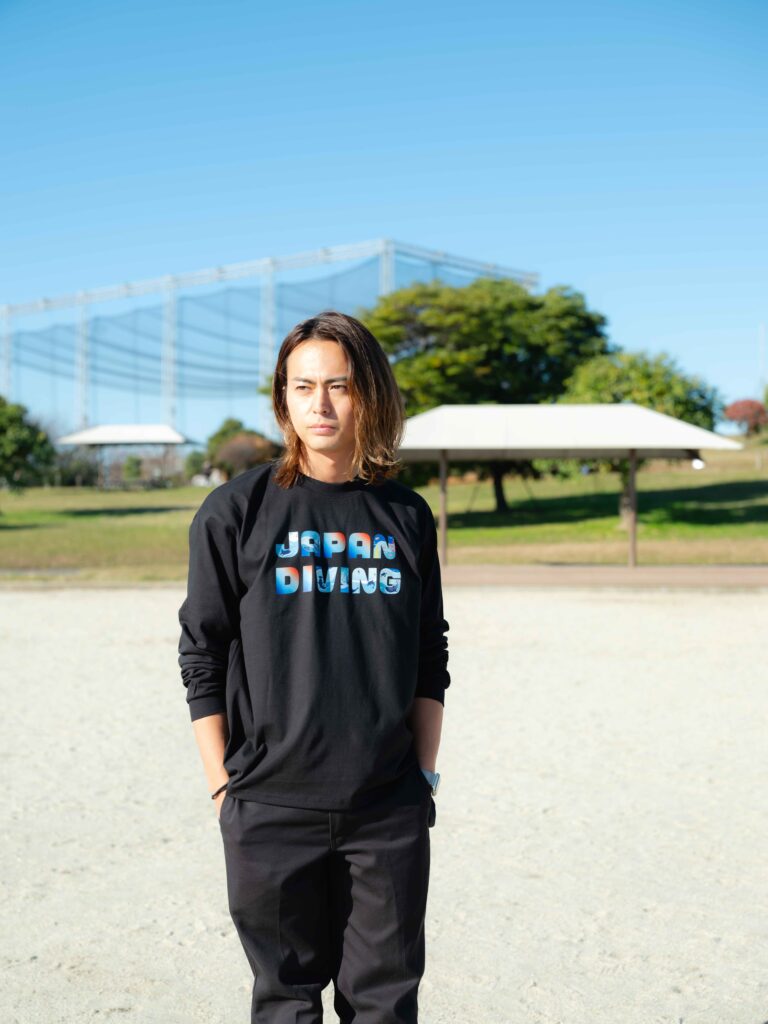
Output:
[[285,337],[272,378],[272,409],[283,431],[285,452],[278,460],[274,480],[292,486],[301,468],[303,444],[288,413],[288,356],[303,341],[336,341],[349,361],[349,397],[354,416],[353,473],[369,483],[395,476],[401,468],[396,452],[406,425],[402,395],[386,352],[354,316],[328,309],[297,324]]

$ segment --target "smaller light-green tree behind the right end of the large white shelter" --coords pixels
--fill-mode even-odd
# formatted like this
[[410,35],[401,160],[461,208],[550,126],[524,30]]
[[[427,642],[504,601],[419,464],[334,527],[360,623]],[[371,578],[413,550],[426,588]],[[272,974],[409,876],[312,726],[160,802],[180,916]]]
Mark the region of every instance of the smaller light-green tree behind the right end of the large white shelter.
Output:
[[[615,351],[599,355],[578,367],[566,381],[562,402],[633,401],[656,413],[674,416],[706,430],[712,430],[722,413],[722,398],[716,388],[699,377],[688,377],[666,352]],[[622,495],[618,511],[623,524],[629,512],[629,459],[593,460],[602,468],[620,474]],[[638,467],[645,460],[638,462]]]

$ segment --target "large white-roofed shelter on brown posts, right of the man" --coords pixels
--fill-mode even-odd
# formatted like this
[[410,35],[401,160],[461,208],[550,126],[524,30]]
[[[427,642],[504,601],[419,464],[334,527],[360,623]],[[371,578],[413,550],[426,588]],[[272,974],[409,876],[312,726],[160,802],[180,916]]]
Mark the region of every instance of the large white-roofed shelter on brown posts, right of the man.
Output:
[[701,450],[737,451],[737,441],[634,402],[615,404],[438,406],[413,416],[398,455],[440,466],[440,559],[447,563],[449,462],[520,459],[629,459],[629,564],[637,564],[638,459],[696,459]]

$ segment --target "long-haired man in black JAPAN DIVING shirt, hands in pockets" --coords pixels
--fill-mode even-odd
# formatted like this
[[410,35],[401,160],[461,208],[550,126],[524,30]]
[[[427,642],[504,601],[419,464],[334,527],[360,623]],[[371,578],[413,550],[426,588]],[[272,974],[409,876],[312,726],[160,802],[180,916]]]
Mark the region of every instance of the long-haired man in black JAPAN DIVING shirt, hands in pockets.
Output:
[[298,324],[285,453],[189,529],[179,665],[254,975],[251,1022],[414,1024],[447,672],[434,519],[391,479],[404,415],[354,317]]

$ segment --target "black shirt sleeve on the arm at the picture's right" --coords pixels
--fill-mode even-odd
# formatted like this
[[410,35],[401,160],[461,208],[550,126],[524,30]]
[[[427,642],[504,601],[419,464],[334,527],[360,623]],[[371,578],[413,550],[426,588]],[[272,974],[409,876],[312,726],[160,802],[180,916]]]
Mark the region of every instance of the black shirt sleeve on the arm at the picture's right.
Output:
[[424,540],[419,557],[421,573],[421,623],[419,629],[419,675],[417,697],[432,697],[445,702],[445,687],[451,683],[447,671],[449,624],[443,617],[442,583],[437,555],[437,529],[429,506],[426,507]]

